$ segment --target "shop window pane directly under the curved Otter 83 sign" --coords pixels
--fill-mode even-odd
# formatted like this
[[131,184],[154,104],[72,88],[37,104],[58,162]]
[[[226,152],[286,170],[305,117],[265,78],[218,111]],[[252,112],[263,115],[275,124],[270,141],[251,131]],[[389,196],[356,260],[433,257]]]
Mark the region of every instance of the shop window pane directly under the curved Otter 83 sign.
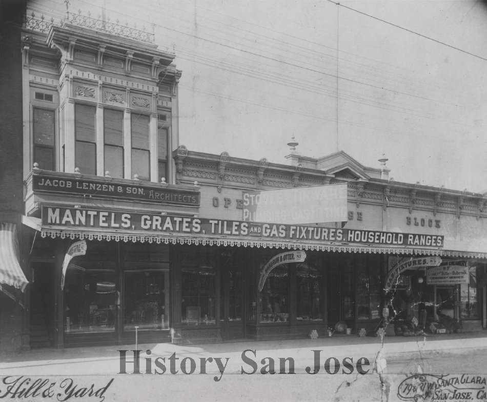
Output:
[[274,268],[260,292],[260,322],[289,321],[289,272],[288,268]]

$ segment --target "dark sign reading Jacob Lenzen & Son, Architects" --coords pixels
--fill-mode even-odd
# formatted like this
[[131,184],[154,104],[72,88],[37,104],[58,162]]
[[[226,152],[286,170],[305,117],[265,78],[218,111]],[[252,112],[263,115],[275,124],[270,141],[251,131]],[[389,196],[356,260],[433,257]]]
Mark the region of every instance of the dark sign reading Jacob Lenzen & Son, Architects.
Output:
[[198,191],[164,188],[157,185],[111,183],[88,178],[64,178],[48,173],[32,176],[32,190],[91,197],[124,198],[160,204],[198,207]]

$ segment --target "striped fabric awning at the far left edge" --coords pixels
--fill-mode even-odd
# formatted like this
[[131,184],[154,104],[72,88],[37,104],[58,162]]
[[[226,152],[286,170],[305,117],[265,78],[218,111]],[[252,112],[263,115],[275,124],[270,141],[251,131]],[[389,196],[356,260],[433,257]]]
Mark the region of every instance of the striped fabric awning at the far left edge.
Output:
[[23,292],[28,283],[18,263],[16,226],[0,223],[0,289],[1,285],[8,285]]

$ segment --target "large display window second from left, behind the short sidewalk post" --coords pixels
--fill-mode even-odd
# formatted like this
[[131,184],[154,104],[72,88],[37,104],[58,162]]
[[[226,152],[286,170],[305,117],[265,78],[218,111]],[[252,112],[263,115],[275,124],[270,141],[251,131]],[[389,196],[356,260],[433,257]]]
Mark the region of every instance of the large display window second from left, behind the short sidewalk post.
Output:
[[125,273],[125,331],[169,329],[165,271]]

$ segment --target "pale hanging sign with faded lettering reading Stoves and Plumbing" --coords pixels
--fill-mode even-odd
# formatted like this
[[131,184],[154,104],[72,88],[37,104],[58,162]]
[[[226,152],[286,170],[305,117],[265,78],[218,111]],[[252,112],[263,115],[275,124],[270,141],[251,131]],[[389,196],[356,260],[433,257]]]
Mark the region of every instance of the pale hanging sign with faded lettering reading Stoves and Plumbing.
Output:
[[347,184],[243,192],[243,222],[346,222],[347,213]]

